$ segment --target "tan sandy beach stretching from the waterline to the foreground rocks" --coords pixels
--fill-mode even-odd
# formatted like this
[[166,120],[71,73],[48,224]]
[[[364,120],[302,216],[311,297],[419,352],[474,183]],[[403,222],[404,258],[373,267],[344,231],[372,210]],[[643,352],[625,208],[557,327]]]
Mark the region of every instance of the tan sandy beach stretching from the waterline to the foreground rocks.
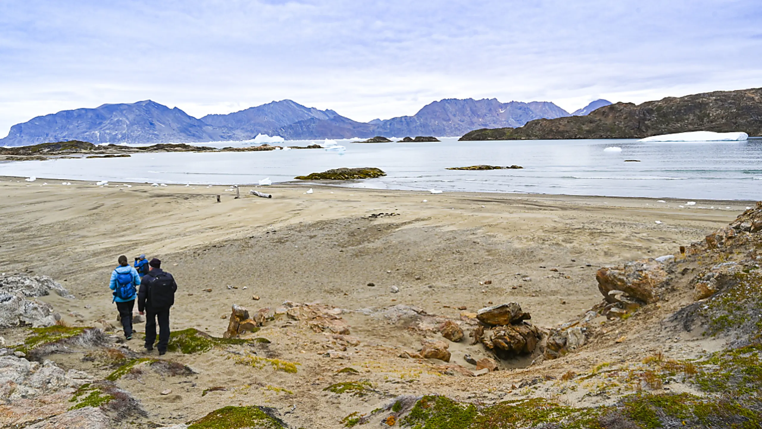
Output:
[[[171,389],[176,394],[165,396],[158,392],[172,384],[170,379],[123,381],[149,412],[138,419],[141,424],[189,421],[240,403],[281,412],[297,405],[289,414],[294,427],[339,427],[343,416],[368,412],[394,395],[437,392],[495,399],[496,386],[524,376],[514,371],[533,369],[511,370],[526,366],[517,361],[506,363],[507,370],[491,378],[442,376],[431,369],[434,364],[397,356],[399,350],[420,347],[420,335],[367,314],[412,305],[428,314],[458,318],[463,311],[493,303],[519,302],[533,324],[550,327],[600,302],[595,272],[601,266],[676,254],[681,245],[702,240],[753,205],[432,195],[303,184],[242,187],[241,198],[235,199],[225,186],[127,185],[0,178],[0,272],[51,276],[64,285],[75,300],[55,295],[40,299],[50,302],[68,324],[92,326],[107,320],[118,327],[107,287],[110,271],[117,256],[125,254],[131,262],[145,253],[161,259],[178,281],[173,331],[194,327],[221,337],[233,304],[256,311],[285,301],[322,302],[348,310],[343,318],[361,343],[350,348],[351,359],[334,360],[321,356],[325,341],[331,340],[325,334],[289,322],[263,327],[256,336],[266,337],[271,346],[261,353],[299,362],[296,374],[235,366],[219,350],[168,353],[198,374],[192,386],[175,384]],[[313,192],[307,194],[310,188]],[[249,189],[273,198],[249,195]],[[138,331],[142,327],[136,325]],[[7,340],[14,337],[5,335]],[[140,340],[129,344],[136,352],[141,346]],[[467,366],[463,353],[478,354],[476,347],[451,344],[450,363]],[[594,365],[606,359],[599,351],[592,347],[573,360],[552,361],[555,366],[543,366],[543,371]],[[78,357],[51,359],[71,366]],[[344,376],[336,375],[344,366],[362,369],[362,378],[383,395],[339,402],[324,392],[329,381]],[[218,385],[230,390],[201,395]],[[568,400],[577,401],[573,395]]]

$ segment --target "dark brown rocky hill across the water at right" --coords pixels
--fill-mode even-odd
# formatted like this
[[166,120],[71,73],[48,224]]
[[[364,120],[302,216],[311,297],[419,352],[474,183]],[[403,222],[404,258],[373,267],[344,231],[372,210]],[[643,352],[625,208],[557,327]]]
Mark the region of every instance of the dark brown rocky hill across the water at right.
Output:
[[744,131],[762,136],[762,89],[616,103],[586,116],[538,119],[523,127],[471,131],[460,140],[643,138],[686,131]]

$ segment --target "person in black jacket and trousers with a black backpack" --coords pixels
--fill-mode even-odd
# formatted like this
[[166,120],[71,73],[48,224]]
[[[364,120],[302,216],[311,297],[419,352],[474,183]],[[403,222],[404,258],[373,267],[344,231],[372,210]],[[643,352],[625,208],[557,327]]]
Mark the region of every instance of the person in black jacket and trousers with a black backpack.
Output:
[[162,270],[162,261],[153,258],[149,262],[150,270],[143,276],[138,292],[138,311],[146,313],[146,350],[152,351],[156,340],[156,321],[158,319],[159,356],[167,353],[169,343],[169,308],[174,305],[174,292],[178,284],[170,273]]

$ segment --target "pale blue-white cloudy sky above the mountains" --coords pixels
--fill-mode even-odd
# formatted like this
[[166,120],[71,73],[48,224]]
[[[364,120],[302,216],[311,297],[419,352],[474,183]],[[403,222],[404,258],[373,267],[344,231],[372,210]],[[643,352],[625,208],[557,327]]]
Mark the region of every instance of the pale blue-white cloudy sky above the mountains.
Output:
[[104,103],[645,102],[762,87],[760,0],[0,0],[0,137]]

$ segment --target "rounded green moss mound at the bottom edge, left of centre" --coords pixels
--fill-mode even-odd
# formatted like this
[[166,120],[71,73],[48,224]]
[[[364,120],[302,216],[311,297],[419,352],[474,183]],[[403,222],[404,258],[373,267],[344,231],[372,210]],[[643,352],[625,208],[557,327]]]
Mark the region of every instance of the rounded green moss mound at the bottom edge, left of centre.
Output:
[[286,424],[268,414],[266,408],[224,407],[192,421],[188,429],[284,429]]

